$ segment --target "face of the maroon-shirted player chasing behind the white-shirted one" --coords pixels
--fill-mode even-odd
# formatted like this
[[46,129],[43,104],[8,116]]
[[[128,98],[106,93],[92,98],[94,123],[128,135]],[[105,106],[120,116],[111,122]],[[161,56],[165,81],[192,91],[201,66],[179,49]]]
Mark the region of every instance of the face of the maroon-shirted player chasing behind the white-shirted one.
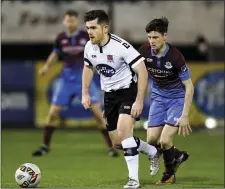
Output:
[[148,33],[148,41],[153,50],[159,50],[165,44],[167,40],[167,34],[161,34],[157,31],[151,31]]

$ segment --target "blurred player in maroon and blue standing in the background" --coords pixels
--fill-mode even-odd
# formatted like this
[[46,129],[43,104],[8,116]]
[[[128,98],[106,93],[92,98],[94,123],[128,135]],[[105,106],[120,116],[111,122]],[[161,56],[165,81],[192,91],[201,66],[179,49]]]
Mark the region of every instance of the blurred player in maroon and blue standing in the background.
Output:
[[[74,10],[68,10],[64,14],[63,24],[66,31],[57,36],[53,51],[49,55],[44,67],[40,70],[40,74],[45,75],[59,56],[61,56],[64,62],[60,82],[54,92],[47,116],[43,145],[32,154],[33,156],[42,156],[49,152],[50,141],[61,110],[64,106],[69,105],[74,96],[77,96],[80,100],[82,98],[83,54],[89,36],[86,31],[78,28],[78,13]],[[91,111],[97,121],[98,129],[103,134],[108,145],[109,155],[116,157],[118,153],[112,147],[112,142],[105,126],[105,120],[102,117],[100,94],[94,82],[91,83],[89,92],[92,99]]]

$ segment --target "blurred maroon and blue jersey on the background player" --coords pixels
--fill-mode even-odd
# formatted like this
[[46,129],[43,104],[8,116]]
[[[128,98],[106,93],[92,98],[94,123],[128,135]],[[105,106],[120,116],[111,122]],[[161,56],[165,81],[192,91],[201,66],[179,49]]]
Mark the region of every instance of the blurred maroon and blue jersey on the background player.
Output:
[[88,40],[87,32],[80,29],[73,35],[62,32],[56,37],[53,51],[64,62],[61,74],[63,79],[82,82],[84,47]]

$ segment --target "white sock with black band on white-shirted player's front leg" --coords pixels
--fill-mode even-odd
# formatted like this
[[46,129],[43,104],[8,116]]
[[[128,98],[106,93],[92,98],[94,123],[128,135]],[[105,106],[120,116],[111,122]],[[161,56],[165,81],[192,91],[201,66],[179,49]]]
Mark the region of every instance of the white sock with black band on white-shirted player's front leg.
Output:
[[123,140],[122,146],[124,150],[124,158],[126,160],[129,172],[129,178],[137,180],[139,182],[138,178],[139,155],[137,143],[134,140],[134,137],[129,137]]

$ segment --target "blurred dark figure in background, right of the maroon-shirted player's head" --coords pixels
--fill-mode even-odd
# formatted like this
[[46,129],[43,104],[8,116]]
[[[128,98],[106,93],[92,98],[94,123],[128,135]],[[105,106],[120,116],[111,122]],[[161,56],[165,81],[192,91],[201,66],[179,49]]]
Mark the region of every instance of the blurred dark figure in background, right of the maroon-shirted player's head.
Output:
[[203,35],[198,35],[195,41],[196,61],[209,61],[209,44]]

